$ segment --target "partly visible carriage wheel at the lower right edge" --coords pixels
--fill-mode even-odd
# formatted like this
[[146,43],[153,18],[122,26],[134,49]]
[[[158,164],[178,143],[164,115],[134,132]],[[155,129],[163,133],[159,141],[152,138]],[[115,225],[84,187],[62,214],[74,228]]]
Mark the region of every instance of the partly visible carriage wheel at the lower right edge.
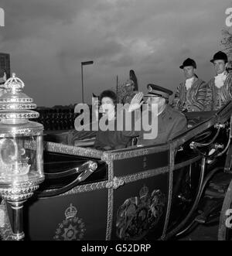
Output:
[[232,240],[232,180],[228,186],[227,193],[223,201],[223,207],[220,212],[218,240]]

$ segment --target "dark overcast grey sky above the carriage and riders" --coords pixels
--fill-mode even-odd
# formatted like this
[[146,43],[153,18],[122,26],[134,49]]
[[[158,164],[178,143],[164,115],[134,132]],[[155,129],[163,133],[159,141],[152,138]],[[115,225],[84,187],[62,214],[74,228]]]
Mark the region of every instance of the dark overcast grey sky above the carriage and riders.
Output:
[[39,106],[81,101],[116,87],[135,70],[138,86],[176,90],[179,65],[196,60],[204,80],[214,75],[210,59],[222,49],[227,0],[3,0],[5,27],[0,51],[11,54],[12,71]]

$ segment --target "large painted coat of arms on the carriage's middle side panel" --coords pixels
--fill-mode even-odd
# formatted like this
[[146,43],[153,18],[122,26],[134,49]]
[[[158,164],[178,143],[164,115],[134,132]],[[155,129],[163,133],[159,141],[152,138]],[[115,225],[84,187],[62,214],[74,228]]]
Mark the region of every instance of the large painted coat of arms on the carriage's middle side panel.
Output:
[[143,186],[139,196],[131,197],[117,213],[117,236],[122,240],[139,240],[158,224],[165,207],[165,195],[158,190],[148,193]]

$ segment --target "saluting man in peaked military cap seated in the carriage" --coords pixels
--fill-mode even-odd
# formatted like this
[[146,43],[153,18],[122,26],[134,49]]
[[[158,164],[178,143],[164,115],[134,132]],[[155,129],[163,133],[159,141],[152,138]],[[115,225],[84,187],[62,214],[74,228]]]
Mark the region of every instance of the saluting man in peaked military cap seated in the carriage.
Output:
[[[131,110],[140,108],[142,104],[142,98],[144,98],[145,103],[148,104],[148,120],[149,124],[145,123],[145,126],[152,123],[152,119],[157,121],[157,136],[155,138],[147,139],[145,134],[148,131],[148,127],[142,125],[141,131],[139,131],[138,136],[138,145],[158,145],[162,143],[169,142],[172,138],[175,138],[176,135],[179,135],[181,132],[185,131],[187,128],[187,120],[184,114],[173,109],[169,105],[169,97],[172,95],[172,90],[168,90],[164,87],[160,87],[155,84],[148,84],[148,94],[143,97],[142,93],[138,93],[131,101]],[[152,114],[152,105],[158,106],[158,116],[153,116]],[[145,115],[142,114],[142,118],[145,118]],[[141,119],[136,120],[142,124]],[[135,121],[135,122],[136,122]]]

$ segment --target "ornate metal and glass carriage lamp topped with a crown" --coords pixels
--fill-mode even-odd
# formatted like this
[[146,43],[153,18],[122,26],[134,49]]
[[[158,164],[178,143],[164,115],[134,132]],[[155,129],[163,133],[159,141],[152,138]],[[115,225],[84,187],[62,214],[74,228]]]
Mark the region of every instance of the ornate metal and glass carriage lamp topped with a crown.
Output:
[[23,203],[43,182],[43,125],[31,118],[39,113],[32,98],[22,93],[24,83],[15,73],[0,97],[0,195],[12,207],[14,240],[24,237]]

